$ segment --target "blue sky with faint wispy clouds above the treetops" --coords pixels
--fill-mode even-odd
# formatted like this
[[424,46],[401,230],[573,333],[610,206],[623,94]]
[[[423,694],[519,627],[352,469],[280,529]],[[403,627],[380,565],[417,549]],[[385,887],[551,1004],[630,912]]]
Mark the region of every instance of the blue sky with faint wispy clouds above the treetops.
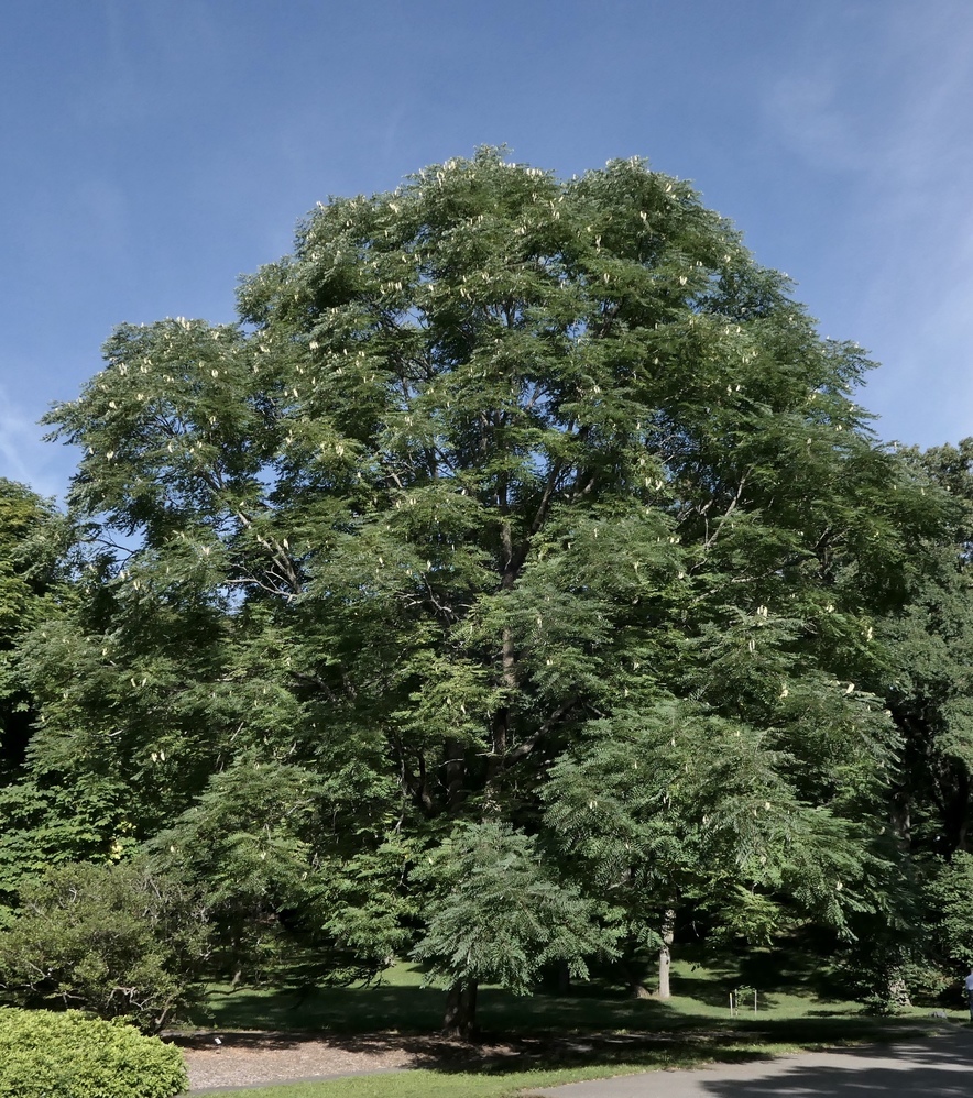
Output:
[[644,155],[883,363],[887,439],[973,435],[971,0],[7,0],[0,475],[122,321],[226,321],[328,195],[509,144]]

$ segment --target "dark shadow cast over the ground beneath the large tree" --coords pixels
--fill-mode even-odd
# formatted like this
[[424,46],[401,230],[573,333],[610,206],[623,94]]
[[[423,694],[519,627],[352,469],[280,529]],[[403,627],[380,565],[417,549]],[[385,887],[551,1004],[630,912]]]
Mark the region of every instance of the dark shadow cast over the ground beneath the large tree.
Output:
[[[724,993],[729,995],[723,987],[725,974],[717,979],[713,976],[712,969],[706,979],[682,976],[678,981],[679,1000],[667,1002],[634,999],[591,985],[577,988],[570,996],[518,997],[484,988],[478,1007],[480,1037],[473,1044],[437,1035],[446,996],[431,988],[380,985],[302,991],[214,991],[208,1010],[190,1020],[209,1032],[198,1039],[193,1034],[177,1035],[176,1040],[188,1045],[198,1040],[201,1043],[197,1046],[204,1047],[212,1043],[214,1030],[225,1044],[240,1047],[286,1047],[325,1039],[336,1046],[359,1051],[407,1046],[417,1066],[456,1061],[464,1065],[458,1069],[469,1070],[471,1062],[477,1062],[480,1070],[483,1064],[496,1059],[498,1070],[511,1070],[515,1061],[522,1066],[525,1062],[529,1066],[572,1066],[590,1063],[590,1055],[599,1063],[606,1055],[626,1063],[636,1062],[633,1055],[647,1056],[654,1063],[663,1054],[664,1059],[669,1057],[666,1063],[687,1057],[698,1062],[701,1054],[703,1058],[718,1053],[719,1058],[758,1055],[754,1048],[767,1043],[834,1046],[892,1040],[917,1029],[915,1023],[909,1026],[900,1020],[870,1018],[848,1009],[808,1010],[806,1001],[800,1014],[791,1018],[753,1014],[746,1009],[731,1017],[729,1010],[713,1010],[722,1008],[726,1003]],[[691,999],[686,997],[687,991]],[[762,1008],[775,998],[762,992]],[[743,1045],[747,1043],[754,1048],[746,1051]]]

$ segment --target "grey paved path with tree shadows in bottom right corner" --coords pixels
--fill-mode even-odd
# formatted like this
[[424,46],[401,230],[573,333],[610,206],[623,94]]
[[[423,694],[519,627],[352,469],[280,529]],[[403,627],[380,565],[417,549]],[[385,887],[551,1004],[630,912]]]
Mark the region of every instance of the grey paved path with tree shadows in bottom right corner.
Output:
[[546,1098],[973,1098],[973,1034],[805,1053],[693,1072],[651,1072],[532,1090]]

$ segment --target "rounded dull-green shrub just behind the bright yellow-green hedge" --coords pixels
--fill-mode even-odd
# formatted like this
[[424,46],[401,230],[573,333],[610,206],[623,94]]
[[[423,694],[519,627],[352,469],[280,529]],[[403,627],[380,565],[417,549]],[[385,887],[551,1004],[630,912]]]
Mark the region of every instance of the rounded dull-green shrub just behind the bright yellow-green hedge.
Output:
[[192,1001],[208,953],[192,893],[132,864],[68,864],[24,885],[0,931],[0,993],[157,1031]]

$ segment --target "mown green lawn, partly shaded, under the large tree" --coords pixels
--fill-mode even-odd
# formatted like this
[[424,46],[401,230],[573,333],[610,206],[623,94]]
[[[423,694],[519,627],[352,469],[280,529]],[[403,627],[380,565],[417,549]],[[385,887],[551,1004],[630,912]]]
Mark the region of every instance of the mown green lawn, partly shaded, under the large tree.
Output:
[[[400,965],[372,988],[214,988],[206,1015],[194,1021],[217,1031],[435,1033],[445,996],[422,988],[420,981],[419,970]],[[828,987],[827,974],[819,978],[813,971],[794,970],[780,955],[750,957],[743,969],[735,962],[720,965],[709,958],[703,967],[682,957],[674,963],[673,989],[673,998],[659,1002],[595,984],[579,986],[570,995],[525,998],[483,988],[478,1019],[485,1037],[549,1035],[550,1043],[542,1040],[523,1057],[506,1056],[475,1070],[468,1063],[444,1063],[434,1069],[225,1091],[223,1098],[507,1098],[610,1075],[895,1040],[929,1024],[928,1008],[896,1019],[871,1018],[838,997]],[[730,992],[735,989],[741,1009],[731,1017]],[[950,1015],[954,1021],[969,1017],[964,1010]]]

